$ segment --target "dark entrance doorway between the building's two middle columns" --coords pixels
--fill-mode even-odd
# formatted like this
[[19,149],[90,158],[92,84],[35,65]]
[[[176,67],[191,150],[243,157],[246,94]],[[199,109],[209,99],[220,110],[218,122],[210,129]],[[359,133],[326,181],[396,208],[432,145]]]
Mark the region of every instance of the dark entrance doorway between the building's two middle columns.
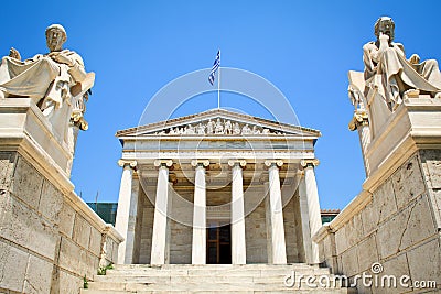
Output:
[[213,226],[207,229],[207,263],[232,263],[232,228],[230,225]]

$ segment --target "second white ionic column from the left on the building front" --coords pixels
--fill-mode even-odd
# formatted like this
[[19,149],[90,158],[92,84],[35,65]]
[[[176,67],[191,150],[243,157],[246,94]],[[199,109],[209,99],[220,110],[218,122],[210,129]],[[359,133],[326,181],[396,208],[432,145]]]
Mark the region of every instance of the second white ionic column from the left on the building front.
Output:
[[168,259],[168,209],[169,209],[169,167],[172,166],[171,160],[157,160],[154,166],[159,167],[157,198],[154,200],[153,235],[151,248],[151,264],[165,264]]

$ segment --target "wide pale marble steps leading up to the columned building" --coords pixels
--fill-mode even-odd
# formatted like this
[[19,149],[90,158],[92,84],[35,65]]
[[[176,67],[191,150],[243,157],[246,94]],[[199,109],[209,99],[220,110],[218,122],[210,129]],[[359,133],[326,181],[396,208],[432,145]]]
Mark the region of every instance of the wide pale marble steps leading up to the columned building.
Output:
[[[294,275],[292,274],[294,272]],[[295,276],[293,286],[287,286],[286,276]],[[301,279],[301,275],[303,277]],[[330,279],[327,288],[310,287],[308,276]],[[325,281],[326,277],[322,281]],[[326,268],[303,263],[287,265],[269,264],[120,264],[97,275],[82,294],[119,293],[357,293],[355,288],[334,286],[333,275]],[[288,283],[292,283],[289,279]]]

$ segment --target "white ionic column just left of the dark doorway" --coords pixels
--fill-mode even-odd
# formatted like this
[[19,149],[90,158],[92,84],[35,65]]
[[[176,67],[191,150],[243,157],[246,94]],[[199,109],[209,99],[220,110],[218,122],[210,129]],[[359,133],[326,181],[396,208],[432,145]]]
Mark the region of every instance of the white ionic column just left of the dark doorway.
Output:
[[194,176],[194,209],[193,209],[193,241],[192,264],[206,264],[206,184],[205,167],[209,161],[193,160]]

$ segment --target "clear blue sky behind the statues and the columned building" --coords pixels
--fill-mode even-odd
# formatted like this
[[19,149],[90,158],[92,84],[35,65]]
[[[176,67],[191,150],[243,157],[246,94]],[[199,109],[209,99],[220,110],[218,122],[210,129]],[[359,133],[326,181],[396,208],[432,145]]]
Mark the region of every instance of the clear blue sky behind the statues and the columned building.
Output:
[[[44,30],[61,23],[65,47],[96,73],[72,181],[87,202],[117,202],[121,148],[117,130],[136,127],[166,83],[222,65],[254,72],[288,97],[302,126],[321,130],[316,168],[322,208],[343,208],[365,178],[358,137],[347,130],[353,107],[347,70],[363,70],[362,46],[380,15],[396,23],[407,55],[441,61],[440,1],[6,1],[0,53],[46,52]],[[164,101],[166,104],[166,101]],[[216,106],[215,98],[180,115]],[[252,105],[251,115],[260,115]]]

